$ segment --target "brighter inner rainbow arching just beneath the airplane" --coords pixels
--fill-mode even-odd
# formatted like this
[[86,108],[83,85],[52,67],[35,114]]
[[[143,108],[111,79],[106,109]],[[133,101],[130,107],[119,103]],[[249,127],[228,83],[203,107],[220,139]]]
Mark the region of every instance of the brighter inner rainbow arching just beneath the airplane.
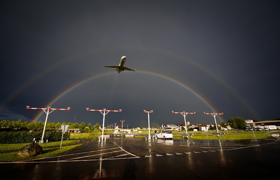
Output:
[[[183,84],[182,82],[179,82],[171,77],[167,77],[165,75],[162,75],[162,74],[158,74],[158,73],[154,73],[154,72],[147,72],[147,71],[137,71],[137,72],[134,72],[134,73],[144,73],[144,74],[150,74],[150,75],[154,75],[154,76],[157,76],[157,77],[161,77],[161,78],[164,78],[166,80],[170,80],[178,85],[180,85],[181,87],[189,90],[192,94],[194,94],[196,97],[198,97],[203,103],[205,103],[211,110],[212,112],[217,112],[215,110],[215,108],[213,106],[210,105],[210,103],[208,103],[201,95],[199,95],[197,92],[195,92],[194,90],[192,90],[190,87],[188,87],[187,85]],[[67,93],[69,93],[71,90],[74,90],[75,88],[79,87],[80,85],[83,85],[91,80],[95,80],[97,78],[100,78],[100,77],[103,77],[103,76],[107,76],[107,75],[111,75],[111,74],[115,74],[115,72],[110,72],[110,73],[104,73],[104,74],[99,74],[99,75],[95,75],[95,76],[92,76],[92,77],[89,77],[85,80],[82,80],[81,82],[78,82],[77,84],[69,87],[68,89],[66,89],[65,91],[63,91],[62,93],[60,93],[57,97],[55,97],[53,100],[51,100],[50,103],[48,103],[45,107],[48,107],[48,106],[52,106],[55,102],[57,102],[59,99],[61,99],[64,95],[66,95]],[[39,120],[39,118],[44,114],[44,112],[40,112],[38,113],[34,119],[32,120],[33,122],[36,122]],[[221,122],[225,122],[222,117],[220,116],[217,116],[218,119],[221,121]]]

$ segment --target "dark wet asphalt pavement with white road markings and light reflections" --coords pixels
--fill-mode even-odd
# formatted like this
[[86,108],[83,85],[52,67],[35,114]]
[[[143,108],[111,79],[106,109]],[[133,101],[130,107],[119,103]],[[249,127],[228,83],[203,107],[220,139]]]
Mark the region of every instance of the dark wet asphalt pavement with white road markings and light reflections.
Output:
[[[0,179],[267,179],[279,177],[280,140],[81,140],[67,153],[0,163]],[[278,178],[276,178],[278,179]]]

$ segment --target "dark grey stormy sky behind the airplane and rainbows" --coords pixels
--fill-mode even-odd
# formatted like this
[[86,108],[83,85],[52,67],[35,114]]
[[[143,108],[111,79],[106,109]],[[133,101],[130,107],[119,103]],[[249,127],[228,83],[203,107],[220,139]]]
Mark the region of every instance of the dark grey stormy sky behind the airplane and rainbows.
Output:
[[[214,123],[279,118],[278,1],[1,1],[0,119]],[[120,74],[106,66],[136,72]],[[87,81],[88,80],[88,81]],[[84,82],[84,83],[82,83]],[[77,87],[76,87],[77,86]],[[74,88],[75,87],[75,88]],[[65,95],[63,95],[65,94]],[[63,96],[62,96],[63,95]],[[61,96],[61,98],[59,98]],[[41,113],[41,114],[40,114]],[[39,117],[39,119],[37,119]]]

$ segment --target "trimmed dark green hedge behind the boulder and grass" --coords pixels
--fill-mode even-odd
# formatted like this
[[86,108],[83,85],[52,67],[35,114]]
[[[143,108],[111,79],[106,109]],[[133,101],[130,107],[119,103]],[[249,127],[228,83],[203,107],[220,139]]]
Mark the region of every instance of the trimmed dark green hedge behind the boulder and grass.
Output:
[[[17,143],[28,143],[33,142],[33,138],[41,138],[43,132],[29,132],[29,131],[20,131],[20,132],[1,132],[0,133],[0,144],[17,144]],[[59,131],[46,131],[44,138],[48,138],[48,142],[61,141],[62,132]],[[68,132],[65,132],[63,135],[63,140],[67,140],[70,137]]]

